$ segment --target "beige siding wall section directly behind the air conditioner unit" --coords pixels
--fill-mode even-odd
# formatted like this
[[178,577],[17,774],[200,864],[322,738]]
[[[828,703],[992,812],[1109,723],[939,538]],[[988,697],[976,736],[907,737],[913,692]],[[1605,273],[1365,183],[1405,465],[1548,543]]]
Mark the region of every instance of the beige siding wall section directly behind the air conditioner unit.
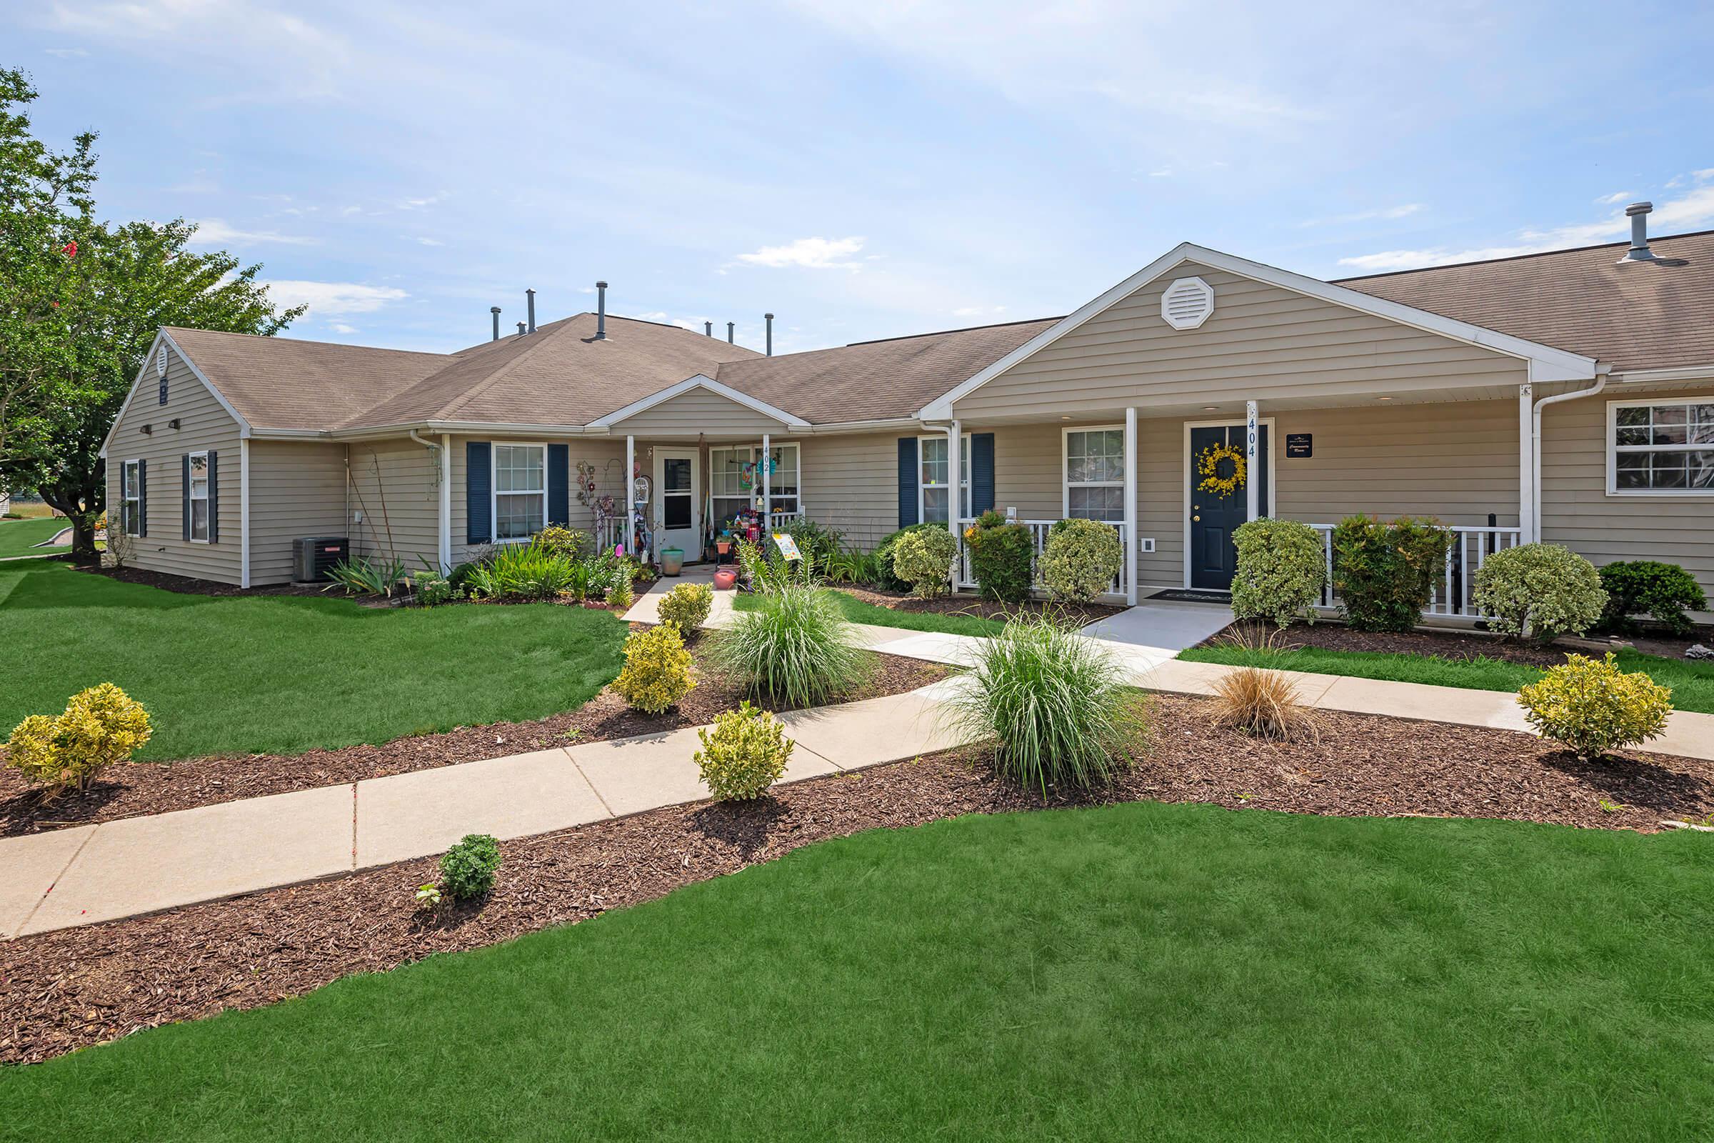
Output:
[[291,542],[345,536],[343,444],[250,440],[250,586],[290,583]]

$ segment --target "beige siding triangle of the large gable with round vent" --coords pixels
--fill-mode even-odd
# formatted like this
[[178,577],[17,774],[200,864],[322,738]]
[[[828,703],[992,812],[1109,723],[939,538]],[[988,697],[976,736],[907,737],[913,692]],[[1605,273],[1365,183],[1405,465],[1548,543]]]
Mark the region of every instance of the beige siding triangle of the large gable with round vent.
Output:
[[[1160,293],[1214,286],[1214,315],[1178,331]],[[1316,399],[1515,386],[1520,360],[1205,266],[1178,266],[958,401],[963,420],[1059,416],[1126,404]]]

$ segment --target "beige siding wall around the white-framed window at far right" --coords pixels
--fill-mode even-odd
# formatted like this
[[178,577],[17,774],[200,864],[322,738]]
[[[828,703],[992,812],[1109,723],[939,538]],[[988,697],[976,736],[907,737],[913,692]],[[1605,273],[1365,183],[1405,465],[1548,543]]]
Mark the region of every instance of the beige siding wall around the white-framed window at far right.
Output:
[[1608,401],[1714,398],[1714,382],[1688,392],[1611,387],[1541,413],[1541,538],[1594,564],[1680,564],[1714,598],[1714,495],[1608,495]]

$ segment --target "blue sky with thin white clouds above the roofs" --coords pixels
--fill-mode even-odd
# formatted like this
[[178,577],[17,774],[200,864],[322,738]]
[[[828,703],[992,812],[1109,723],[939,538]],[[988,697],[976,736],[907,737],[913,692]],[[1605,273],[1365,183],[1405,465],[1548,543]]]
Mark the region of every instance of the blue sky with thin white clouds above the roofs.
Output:
[[[1390,10],[1392,9],[1392,10]],[[1714,228],[1714,7],[0,5],[111,218],[454,350],[593,308],[776,350],[1063,314],[1181,240],[1320,278]]]

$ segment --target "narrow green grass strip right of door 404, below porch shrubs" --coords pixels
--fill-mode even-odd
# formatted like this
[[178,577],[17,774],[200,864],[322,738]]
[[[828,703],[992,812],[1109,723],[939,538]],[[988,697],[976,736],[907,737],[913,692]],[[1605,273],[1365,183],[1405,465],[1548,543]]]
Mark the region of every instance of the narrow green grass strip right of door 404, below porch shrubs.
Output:
[[[1318,675],[1354,675],[1357,679],[1392,679],[1395,682],[1426,682],[1436,687],[1467,687],[1471,691],[1517,691],[1541,679],[1541,670],[1522,663],[1508,663],[1479,656],[1453,660],[1440,655],[1387,655],[1381,651],[1332,651],[1327,648],[1296,648],[1291,651],[1253,651],[1243,648],[1190,648],[1179,658],[1193,663],[1227,663],[1232,667],[1277,667],[1280,670],[1306,670]],[[1681,711],[1714,715],[1714,663],[1661,658],[1639,651],[1618,651],[1623,670],[1640,670],[1663,687],[1673,689],[1673,706]]]

